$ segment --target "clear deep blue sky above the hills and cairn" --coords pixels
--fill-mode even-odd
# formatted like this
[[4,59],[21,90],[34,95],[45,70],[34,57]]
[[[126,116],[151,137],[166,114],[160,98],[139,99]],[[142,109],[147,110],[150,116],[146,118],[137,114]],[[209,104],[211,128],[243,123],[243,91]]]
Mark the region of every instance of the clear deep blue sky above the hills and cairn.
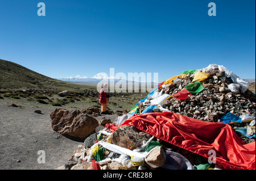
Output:
[[0,59],[52,78],[115,68],[161,82],[209,64],[255,78],[255,1],[0,0]]

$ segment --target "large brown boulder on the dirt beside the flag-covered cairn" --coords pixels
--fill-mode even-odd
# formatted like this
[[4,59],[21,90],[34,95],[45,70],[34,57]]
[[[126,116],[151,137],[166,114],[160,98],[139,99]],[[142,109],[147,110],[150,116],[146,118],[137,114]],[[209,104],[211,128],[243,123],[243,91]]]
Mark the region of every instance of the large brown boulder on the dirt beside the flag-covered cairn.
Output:
[[52,129],[63,135],[85,139],[98,127],[98,121],[79,110],[67,111],[57,108],[50,113]]

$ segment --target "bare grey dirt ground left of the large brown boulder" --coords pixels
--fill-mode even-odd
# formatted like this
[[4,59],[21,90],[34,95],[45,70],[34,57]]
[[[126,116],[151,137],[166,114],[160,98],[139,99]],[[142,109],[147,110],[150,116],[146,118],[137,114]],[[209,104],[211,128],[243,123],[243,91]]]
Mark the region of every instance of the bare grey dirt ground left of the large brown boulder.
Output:
[[[51,128],[49,113],[56,107],[10,107],[10,100],[0,99],[0,169],[53,170],[71,158],[83,142],[71,140]],[[65,108],[65,107],[64,107]],[[42,114],[35,113],[41,110]],[[117,115],[95,117],[97,120],[114,119]],[[103,129],[99,126],[96,130]],[[38,163],[39,150],[45,153],[46,163]]]

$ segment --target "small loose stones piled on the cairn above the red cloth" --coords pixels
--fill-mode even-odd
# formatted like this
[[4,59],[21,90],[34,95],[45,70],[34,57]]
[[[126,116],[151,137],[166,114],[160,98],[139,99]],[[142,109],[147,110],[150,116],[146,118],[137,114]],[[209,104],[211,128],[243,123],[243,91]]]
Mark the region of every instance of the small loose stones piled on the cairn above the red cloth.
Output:
[[[193,117],[204,121],[220,121],[221,117],[228,112],[238,116],[245,113],[255,115],[255,95],[250,91],[242,92],[239,86],[237,92],[230,91],[230,78],[225,77],[225,72],[219,70],[210,70],[207,73],[210,76],[201,81],[204,90],[188,95],[188,99],[179,99],[172,97],[164,101],[161,105],[169,111],[180,113],[181,115]],[[163,88],[165,94],[174,95],[180,91],[179,88],[168,89],[168,86],[181,85],[184,89],[186,81],[193,77],[180,78],[176,83],[170,83]],[[232,84],[232,83],[231,83]],[[237,88],[236,87],[236,88]],[[240,86],[241,87],[241,86]],[[146,108],[146,107],[144,107]]]

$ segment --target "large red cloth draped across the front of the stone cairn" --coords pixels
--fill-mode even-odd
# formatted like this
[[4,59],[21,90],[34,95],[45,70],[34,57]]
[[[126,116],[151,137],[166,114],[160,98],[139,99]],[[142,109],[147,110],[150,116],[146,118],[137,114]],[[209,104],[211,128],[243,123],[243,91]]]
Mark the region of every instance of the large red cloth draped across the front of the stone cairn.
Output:
[[[134,125],[205,158],[212,158],[208,151],[214,150],[216,163],[223,169],[255,169],[255,142],[244,144],[228,124],[205,122],[173,112],[154,112],[134,115],[121,127],[125,125]],[[118,127],[110,128],[114,131]]]

